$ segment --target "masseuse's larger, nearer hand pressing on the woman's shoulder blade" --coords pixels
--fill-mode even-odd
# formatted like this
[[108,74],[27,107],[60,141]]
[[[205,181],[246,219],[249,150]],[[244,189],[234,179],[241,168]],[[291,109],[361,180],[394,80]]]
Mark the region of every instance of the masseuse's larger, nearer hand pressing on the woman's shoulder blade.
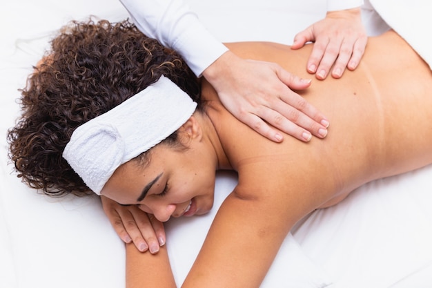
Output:
[[277,129],[304,142],[327,133],[324,115],[290,89],[308,88],[310,79],[295,77],[277,64],[242,59],[231,51],[203,75],[230,113],[274,142],[283,140]]

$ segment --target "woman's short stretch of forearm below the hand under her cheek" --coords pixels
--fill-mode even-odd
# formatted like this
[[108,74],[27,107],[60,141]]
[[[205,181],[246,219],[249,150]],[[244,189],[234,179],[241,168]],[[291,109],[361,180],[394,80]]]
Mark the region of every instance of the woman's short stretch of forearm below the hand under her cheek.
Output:
[[166,246],[159,253],[138,251],[126,244],[126,288],[176,288]]

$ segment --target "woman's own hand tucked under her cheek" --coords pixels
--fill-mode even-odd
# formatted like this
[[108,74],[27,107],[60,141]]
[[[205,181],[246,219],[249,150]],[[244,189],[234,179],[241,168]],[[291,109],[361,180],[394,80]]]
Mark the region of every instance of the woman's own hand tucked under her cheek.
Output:
[[164,224],[135,205],[122,206],[101,196],[102,206],[112,227],[125,243],[133,242],[141,252],[155,254],[165,244]]

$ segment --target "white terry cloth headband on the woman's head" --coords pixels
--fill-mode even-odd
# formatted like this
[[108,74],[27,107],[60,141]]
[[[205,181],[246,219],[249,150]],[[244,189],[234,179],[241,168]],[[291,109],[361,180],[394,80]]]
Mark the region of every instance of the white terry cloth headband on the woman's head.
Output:
[[189,95],[161,76],[119,106],[79,126],[63,158],[101,195],[115,169],[177,131],[196,107]]

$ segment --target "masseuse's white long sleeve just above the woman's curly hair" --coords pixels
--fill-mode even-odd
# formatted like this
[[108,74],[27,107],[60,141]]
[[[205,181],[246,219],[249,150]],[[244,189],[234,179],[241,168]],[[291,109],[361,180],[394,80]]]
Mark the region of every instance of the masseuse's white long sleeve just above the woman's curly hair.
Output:
[[200,76],[228,50],[183,0],[120,0],[141,32],[176,50]]

